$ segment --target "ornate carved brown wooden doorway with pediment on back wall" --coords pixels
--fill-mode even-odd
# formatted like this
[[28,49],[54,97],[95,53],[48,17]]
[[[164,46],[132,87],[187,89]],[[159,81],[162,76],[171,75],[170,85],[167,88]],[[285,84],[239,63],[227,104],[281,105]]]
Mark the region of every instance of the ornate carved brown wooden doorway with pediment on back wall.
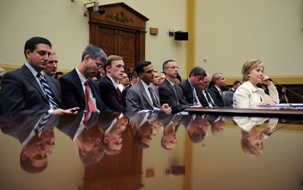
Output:
[[100,5],[104,15],[89,9],[89,43],[110,55],[124,57],[125,72],[145,59],[146,17],[125,3]]

